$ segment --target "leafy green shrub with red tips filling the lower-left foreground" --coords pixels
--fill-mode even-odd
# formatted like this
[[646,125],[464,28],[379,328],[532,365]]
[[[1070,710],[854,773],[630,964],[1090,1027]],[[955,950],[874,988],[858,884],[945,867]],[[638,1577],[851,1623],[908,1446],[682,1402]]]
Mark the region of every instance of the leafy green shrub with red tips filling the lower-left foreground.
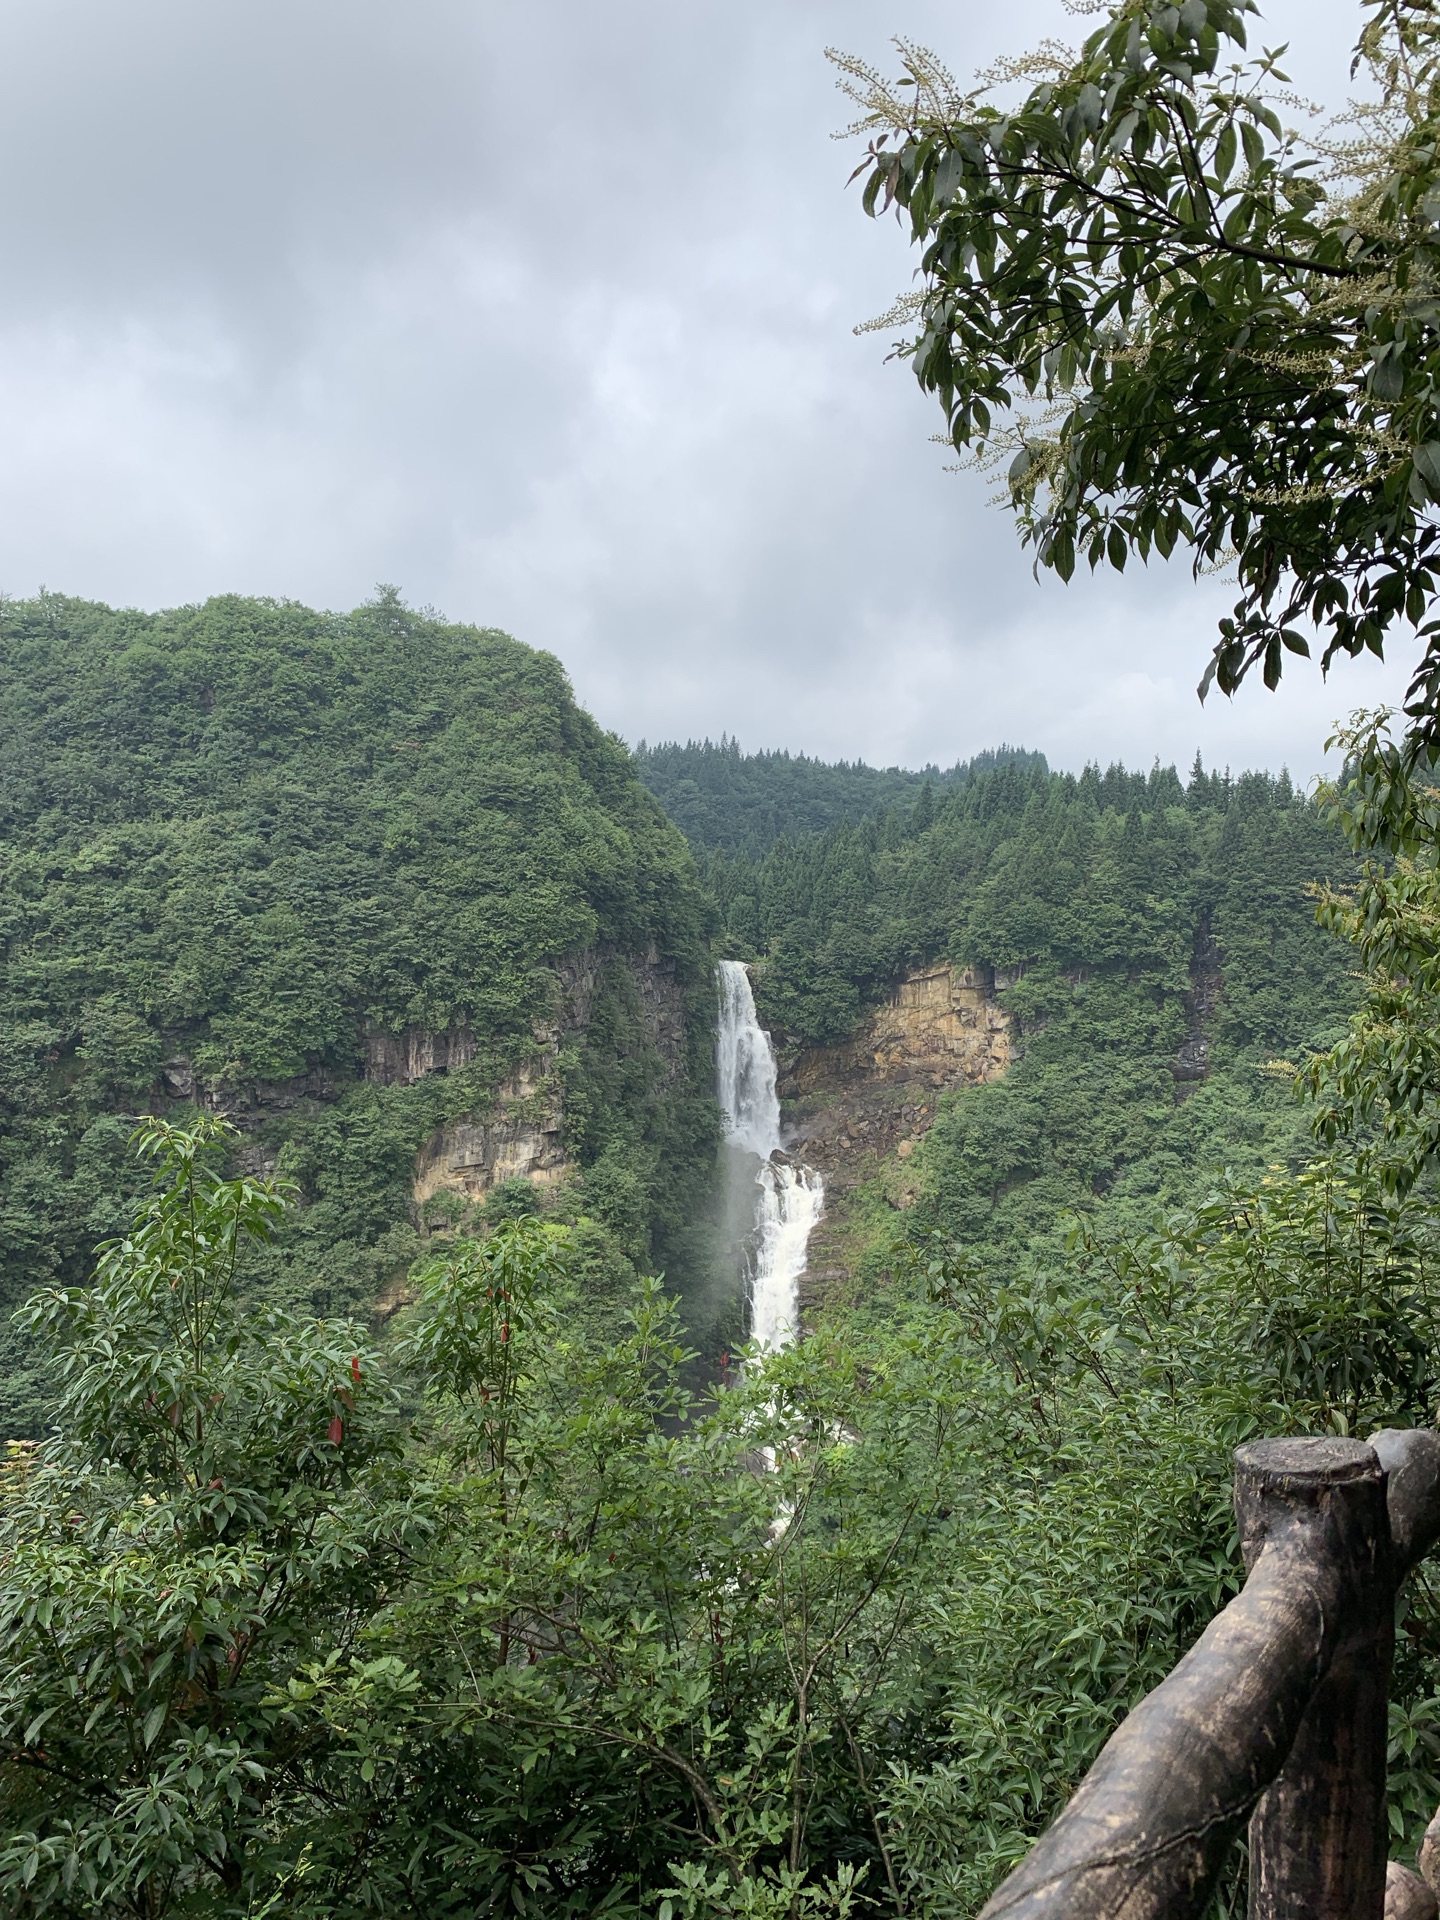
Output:
[[205,1165],[223,1133],[150,1125],[154,1200],[92,1288],[27,1309],[60,1392],[0,1509],[15,1914],[234,1907],[284,1857],[271,1809],[305,1766],[286,1680],[346,1661],[424,1528],[361,1331],[240,1298],[284,1196]]

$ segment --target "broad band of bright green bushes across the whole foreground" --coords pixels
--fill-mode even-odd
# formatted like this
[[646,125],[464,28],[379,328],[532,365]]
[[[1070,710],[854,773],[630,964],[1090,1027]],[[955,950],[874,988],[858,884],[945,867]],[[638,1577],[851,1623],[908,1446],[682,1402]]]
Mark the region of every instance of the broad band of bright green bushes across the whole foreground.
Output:
[[[927,1242],[695,1409],[655,1283],[566,1327],[572,1229],[455,1242],[382,1357],[244,1309],[284,1196],[215,1123],[140,1144],[0,1496],[17,1920],[958,1920],[1235,1588],[1236,1440],[1434,1407],[1432,1215],[1338,1165],[998,1292]],[[1402,1824],[1438,1653],[1419,1590]]]

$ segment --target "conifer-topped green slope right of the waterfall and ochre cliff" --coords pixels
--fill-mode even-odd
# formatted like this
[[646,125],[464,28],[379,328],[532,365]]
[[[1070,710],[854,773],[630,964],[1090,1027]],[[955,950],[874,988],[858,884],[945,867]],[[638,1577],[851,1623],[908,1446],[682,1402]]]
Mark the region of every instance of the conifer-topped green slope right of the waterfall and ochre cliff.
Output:
[[[791,1052],[841,1041],[924,962],[991,983],[1016,1058],[939,1102],[908,1236],[943,1229],[1004,1277],[1071,1210],[1135,1225],[1306,1148],[1275,1062],[1332,1043],[1354,1004],[1311,897],[1352,858],[1284,776],[1016,762],[758,860],[699,858]],[[876,1225],[889,1250],[885,1204]]]

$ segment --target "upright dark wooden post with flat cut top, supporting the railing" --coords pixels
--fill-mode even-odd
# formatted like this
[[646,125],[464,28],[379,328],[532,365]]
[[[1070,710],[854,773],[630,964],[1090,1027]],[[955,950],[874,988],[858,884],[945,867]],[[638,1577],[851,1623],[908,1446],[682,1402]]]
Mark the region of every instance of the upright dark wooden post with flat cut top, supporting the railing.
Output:
[[1261,1440],[1236,1455],[1235,1509],[1246,1569],[1277,1551],[1334,1571],[1315,1692],[1250,1820],[1250,1920],[1380,1920],[1396,1588],[1384,1471],[1357,1440]]

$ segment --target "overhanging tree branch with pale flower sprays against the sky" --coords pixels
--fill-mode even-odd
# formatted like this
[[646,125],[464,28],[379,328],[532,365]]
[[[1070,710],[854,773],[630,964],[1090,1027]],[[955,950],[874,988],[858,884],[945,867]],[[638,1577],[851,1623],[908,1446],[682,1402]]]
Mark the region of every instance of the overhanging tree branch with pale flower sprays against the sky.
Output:
[[1041,564],[1233,564],[1227,693],[1256,664],[1273,687],[1308,628],[1329,664],[1421,626],[1407,710],[1434,739],[1440,15],[1365,0],[1379,100],[1306,142],[1279,56],[1227,63],[1256,13],[1125,0],[972,92],[922,48],[899,88],[835,56],[866,209],[922,250],[899,351],[962,453],[1008,459]]

